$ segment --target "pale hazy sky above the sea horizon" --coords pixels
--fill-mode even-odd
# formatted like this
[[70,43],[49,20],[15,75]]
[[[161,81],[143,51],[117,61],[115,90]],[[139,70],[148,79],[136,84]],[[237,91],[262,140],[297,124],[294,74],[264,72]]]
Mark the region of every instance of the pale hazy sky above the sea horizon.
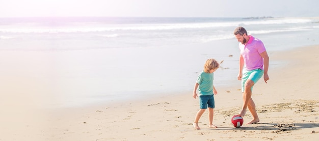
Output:
[[318,0],[0,0],[0,17],[319,17]]

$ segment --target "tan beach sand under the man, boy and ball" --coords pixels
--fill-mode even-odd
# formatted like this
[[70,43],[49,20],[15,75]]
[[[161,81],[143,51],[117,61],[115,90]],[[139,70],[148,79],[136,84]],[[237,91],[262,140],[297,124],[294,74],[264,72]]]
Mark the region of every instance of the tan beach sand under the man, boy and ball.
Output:
[[[208,128],[206,111],[200,119],[200,130],[192,126],[199,108],[192,91],[152,99],[48,109],[37,104],[28,107],[19,104],[36,101],[37,96],[24,97],[16,90],[1,100],[0,140],[317,140],[318,52],[319,46],[310,46],[269,53],[270,61],[285,63],[270,66],[268,84],[261,80],[254,86],[252,98],[260,118],[256,124],[240,128],[230,124],[230,118],[240,112],[242,105],[240,82],[216,88],[219,93],[215,96],[214,124],[218,128]],[[2,85],[11,86],[8,83],[13,82]],[[28,85],[18,89],[28,89]],[[9,89],[2,89],[2,93]],[[251,118],[247,112],[244,123]]]

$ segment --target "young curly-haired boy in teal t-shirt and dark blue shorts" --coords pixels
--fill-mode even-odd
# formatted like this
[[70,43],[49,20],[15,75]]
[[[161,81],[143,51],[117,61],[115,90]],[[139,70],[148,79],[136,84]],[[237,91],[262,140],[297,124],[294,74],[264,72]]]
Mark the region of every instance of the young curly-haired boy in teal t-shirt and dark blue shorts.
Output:
[[217,90],[214,87],[214,72],[219,67],[219,63],[215,59],[207,59],[204,64],[204,70],[198,75],[195,83],[193,97],[198,97],[196,90],[198,88],[199,94],[199,105],[200,110],[197,112],[193,126],[195,129],[200,129],[198,126],[199,118],[203,115],[208,105],[209,114],[209,128],[217,128],[216,125],[212,124],[214,117],[215,100],[214,94],[217,94]]

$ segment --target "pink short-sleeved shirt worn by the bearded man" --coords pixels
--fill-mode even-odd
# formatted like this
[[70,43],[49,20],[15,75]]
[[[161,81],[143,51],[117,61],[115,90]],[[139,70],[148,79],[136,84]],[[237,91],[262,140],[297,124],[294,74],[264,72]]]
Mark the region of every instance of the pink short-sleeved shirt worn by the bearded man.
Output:
[[247,70],[262,69],[263,70],[263,58],[260,53],[266,51],[263,43],[252,36],[249,36],[249,41],[246,45],[239,44],[241,54],[244,57],[245,68]]

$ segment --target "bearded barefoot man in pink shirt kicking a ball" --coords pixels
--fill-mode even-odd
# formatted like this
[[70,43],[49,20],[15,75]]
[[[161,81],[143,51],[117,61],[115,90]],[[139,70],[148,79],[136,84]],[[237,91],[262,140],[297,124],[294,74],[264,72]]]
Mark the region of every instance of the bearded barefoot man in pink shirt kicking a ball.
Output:
[[244,103],[239,115],[244,117],[248,107],[253,119],[246,124],[253,124],[259,122],[259,118],[256,112],[256,105],[251,98],[252,88],[262,75],[265,83],[269,80],[269,57],[263,43],[257,38],[248,36],[244,27],[237,27],[234,30],[234,35],[237,41],[241,42],[239,44],[241,56],[238,80],[242,81]]

